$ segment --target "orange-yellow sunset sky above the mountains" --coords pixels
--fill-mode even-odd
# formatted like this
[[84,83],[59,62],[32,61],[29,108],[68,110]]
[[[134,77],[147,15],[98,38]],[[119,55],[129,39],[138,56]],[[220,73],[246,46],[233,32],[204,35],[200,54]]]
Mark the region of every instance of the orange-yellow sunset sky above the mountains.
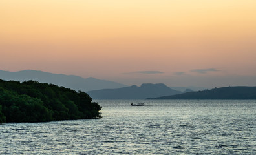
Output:
[[1,0],[0,70],[256,86],[255,0]]

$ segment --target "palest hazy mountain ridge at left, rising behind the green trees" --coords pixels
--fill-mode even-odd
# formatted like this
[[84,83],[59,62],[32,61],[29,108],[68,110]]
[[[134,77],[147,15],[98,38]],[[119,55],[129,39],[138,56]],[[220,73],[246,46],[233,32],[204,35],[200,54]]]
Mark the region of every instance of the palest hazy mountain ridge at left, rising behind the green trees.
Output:
[[127,87],[121,83],[113,81],[106,81],[96,78],[81,78],[80,76],[65,75],[65,74],[52,74],[49,72],[42,72],[38,70],[22,70],[19,72],[8,72],[0,70],[0,79],[9,81],[28,81],[34,80],[41,83],[52,83],[54,85],[63,86],[81,90],[83,92],[90,90],[100,90],[105,88],[121,88]]

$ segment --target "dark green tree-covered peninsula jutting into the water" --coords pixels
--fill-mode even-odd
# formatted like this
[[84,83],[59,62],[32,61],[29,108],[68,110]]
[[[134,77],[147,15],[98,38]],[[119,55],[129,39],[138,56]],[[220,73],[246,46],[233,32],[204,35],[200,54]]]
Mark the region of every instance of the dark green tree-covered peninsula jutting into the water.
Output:
[[37,81],[0,79],[0,123],[101,118],[85,92]]

